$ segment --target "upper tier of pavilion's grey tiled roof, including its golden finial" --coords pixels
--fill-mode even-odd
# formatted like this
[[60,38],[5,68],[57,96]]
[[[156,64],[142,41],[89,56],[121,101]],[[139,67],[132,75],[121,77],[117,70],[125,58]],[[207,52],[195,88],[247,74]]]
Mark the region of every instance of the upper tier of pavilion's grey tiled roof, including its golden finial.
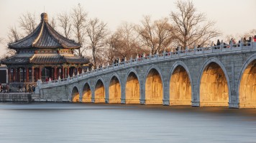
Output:
[[50,24],[48,24],[48,17],[46,13],[41,14],[41,22],[34,32],[24,37],[22,40],[9,44],[12,49],[27,49],[27,48],[65,48],[78,49],[80,44],[73,40],[68,40],[61,34],[55,31]]

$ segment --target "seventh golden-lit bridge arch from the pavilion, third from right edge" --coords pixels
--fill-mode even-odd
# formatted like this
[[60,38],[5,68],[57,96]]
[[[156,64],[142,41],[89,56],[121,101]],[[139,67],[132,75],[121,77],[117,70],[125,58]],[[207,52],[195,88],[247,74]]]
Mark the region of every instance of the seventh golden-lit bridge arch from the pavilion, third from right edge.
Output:
[[182,61],[175,62],[170,69],[168,79],[170,105],[191,105],[191,101],[193,101],[193,82],[187,65]]

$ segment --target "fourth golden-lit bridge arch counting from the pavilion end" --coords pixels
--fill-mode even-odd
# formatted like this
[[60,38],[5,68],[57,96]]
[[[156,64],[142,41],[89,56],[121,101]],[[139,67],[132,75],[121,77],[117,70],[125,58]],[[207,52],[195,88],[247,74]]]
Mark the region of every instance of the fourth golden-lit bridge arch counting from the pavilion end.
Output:
[[109,103],[121,103],[121,85],[119,75],[113,73],[109,78]]

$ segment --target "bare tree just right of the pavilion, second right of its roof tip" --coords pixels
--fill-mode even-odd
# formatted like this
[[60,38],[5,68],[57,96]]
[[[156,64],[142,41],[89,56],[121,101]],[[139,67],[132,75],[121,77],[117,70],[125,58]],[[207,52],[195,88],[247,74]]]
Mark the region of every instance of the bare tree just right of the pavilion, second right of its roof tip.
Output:
[[88,27],[86,28],[88,36],[88,48],[92,52],[93,66],[96,67],[98,63],[102,63],[101,55],[104,55],[102,48],[106,45],[106,36],[108,35],[108,29],[104,22],[99,19],[90,19]]

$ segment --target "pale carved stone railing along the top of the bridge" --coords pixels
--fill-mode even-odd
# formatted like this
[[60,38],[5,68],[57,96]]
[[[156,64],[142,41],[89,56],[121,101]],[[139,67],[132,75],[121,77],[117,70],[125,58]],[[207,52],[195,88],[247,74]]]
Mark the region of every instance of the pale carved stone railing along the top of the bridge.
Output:
[[59,80],[51,80],[42,83],[40,80],[37,81],[37,86],[40,88],[47,88],[50,86],[57,86],[66,83],[75,82],[81,78],[86,78],[91,75],[96,75],[98,73],[106,72],[115,70],[118,68],[124,68],[127,66],[138,65],[141,63],[149,63],[155,60],[163,60],[168,58],[179,58],[179,57],[186,57],[186,56],[193,56],[193,55],[206,55],[212,53],[220,53],[220,52],[232,52],[232,51],[239,51],[239,50],[256,50],[256,42],[240,42],[237,44],[231,43],[230,45],[217,45],[211,47],[199,47],[193,49],[186,49],[186,50],[178,50],[175,52],[163,52],[157,53],[155,55],[147,55],[142,57],[136,57],[134,59],[130,58],[129,60],[124,60],[123,62],[113,63],[111,65],[107,65],[106,67],[97,68],[94,70],[86,71],[85,73],[81,73],[79,75],[74,75],[73,77],[59,79]]

